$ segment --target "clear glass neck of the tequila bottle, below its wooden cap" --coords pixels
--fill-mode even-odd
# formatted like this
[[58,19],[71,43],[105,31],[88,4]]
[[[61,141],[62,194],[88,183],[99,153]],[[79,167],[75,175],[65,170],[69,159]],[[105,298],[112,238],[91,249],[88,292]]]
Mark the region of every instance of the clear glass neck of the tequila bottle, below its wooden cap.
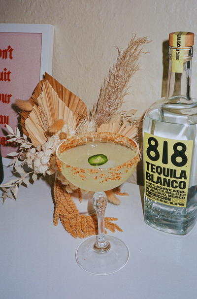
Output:
[[[178,54],[176,54],[178,51]],[[182,56],[178,61],[176,55]],[[169,71],[167,83],[167,98],[181,101],[181,99],[191,100],[191,75],[192,75],[193,47],[174,48],[169,47]],[[182,69],[181,69],[182,68]]]

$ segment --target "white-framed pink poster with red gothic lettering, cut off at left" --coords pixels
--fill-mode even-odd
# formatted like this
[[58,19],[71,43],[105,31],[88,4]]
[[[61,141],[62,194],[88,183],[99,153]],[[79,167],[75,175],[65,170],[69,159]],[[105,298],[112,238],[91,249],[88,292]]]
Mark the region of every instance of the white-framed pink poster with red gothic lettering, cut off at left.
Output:
[[[43,74],[52,72],[54,26],[0,24],[0,144],[1,155],[16,151],[7,141],[5,124],[17,127],[15,101],[29,100]],[[12,150],[13,147],[13,150]]]

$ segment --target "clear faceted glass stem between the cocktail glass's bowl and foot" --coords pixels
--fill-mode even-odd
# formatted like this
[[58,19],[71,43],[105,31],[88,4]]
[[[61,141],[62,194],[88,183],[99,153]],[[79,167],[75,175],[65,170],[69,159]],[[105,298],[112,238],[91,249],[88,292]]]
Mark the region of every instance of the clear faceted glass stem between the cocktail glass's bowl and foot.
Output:
[[102,192],[95,192],[93,197],[93,204],[98,218],[99,234],[97,242],[94,244],[94,249],[99,253],[108,251],[111,247],[110,243],[106,240],[104,233],[104,214],[107,206],[106,194]]

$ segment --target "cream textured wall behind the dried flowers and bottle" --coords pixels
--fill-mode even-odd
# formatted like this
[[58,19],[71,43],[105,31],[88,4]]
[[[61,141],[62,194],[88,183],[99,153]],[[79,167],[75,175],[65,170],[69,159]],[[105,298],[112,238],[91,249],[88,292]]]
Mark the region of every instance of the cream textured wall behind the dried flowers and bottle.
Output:
[[[148,36],[149,51],[131,79],[131,95],[123,109],[141,116],[162,95],[163,42],[173,31],[197,34],[196,0],[0,0],[0,23],[55,26],[52,75],[92,107],[115,46],[125,49],[132,33]],[[197,36],[196,36],[197,40]],[[196,42],[197,49],[197,42]],[[197,50],[193,59],[192,95],[197,98]],[[164,92],[163,92],[164,94]]]

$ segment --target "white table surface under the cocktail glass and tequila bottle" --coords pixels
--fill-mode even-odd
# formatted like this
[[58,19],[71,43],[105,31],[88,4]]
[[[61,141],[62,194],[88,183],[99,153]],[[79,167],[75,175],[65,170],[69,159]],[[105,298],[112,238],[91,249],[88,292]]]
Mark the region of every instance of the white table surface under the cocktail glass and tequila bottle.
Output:
[[[5,168],[4,182],[12,174]],[[197,226],[185,236],[144,223],[142,187],[124,183],[121,204],[107,205],[130,249],[117,273],[97,276],[75,261],[82,239],[53,224],[51,188],[39,179],[0,205],[0,299],[197,299]]]

